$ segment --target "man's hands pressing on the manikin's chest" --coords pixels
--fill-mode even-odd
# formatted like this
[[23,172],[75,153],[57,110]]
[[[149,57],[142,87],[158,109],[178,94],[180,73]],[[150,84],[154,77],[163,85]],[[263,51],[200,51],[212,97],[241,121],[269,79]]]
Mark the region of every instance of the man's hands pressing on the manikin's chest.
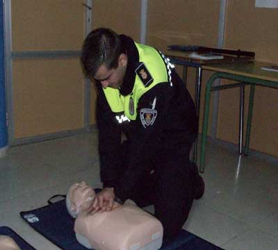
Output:
[[114,188],[104,188],[96,194],[92,204],[95,212],[111,211],[115,199]]

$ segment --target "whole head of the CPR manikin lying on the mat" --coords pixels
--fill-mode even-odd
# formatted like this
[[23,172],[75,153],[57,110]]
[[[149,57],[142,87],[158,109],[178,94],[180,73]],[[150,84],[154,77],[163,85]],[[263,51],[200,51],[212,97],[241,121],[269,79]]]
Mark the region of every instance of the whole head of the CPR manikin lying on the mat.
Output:
[[70,186],[67,191],[66,206],[67,211],[76,218],[79,213],[88,210],[95,199],[95,191],[83,181]]

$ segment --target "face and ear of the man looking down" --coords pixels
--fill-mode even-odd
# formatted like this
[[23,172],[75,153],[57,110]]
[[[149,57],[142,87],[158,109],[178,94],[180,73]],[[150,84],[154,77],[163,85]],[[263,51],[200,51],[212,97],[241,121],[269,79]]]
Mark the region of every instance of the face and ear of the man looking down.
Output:
[[120,88],[126,73],[126,65],[127,57],[125,54],[121,54],[117,68],[107,69],[105,65],[101,65],[94,78],[101,82],[102,88]]

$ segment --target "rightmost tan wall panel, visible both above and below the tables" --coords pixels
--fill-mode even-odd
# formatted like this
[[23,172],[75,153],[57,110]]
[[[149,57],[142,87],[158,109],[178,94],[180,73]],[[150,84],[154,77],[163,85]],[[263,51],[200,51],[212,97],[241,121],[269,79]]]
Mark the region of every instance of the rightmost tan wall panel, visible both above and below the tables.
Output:
[[[254,5],[253,0],[228,1],[225,48],[255,51],[256,60],[278,63],[278,9],[255,8]],[[249,98],[248,91],[245,98]],[[238,103],[238,89],[221,92],[218,138],[238,143]],[[245,103],[247,113],[248,102]],[[277,90],[257,87],[251,149],[278,156],[277,110]]]

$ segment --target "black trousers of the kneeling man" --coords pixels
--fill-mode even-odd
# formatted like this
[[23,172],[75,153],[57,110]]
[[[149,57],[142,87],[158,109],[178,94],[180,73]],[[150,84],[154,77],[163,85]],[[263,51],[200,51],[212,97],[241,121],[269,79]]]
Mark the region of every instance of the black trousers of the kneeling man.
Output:
[[168,153],[147,160],[145,164],[154,172],[150,174],[148,170],[135,183],[130,197],[140,207],[154,205],[154,215],[163,225],[164,243],[177,237],[193,203],[196,165],[189,161],[191,146],[183,146],[179,155]]

